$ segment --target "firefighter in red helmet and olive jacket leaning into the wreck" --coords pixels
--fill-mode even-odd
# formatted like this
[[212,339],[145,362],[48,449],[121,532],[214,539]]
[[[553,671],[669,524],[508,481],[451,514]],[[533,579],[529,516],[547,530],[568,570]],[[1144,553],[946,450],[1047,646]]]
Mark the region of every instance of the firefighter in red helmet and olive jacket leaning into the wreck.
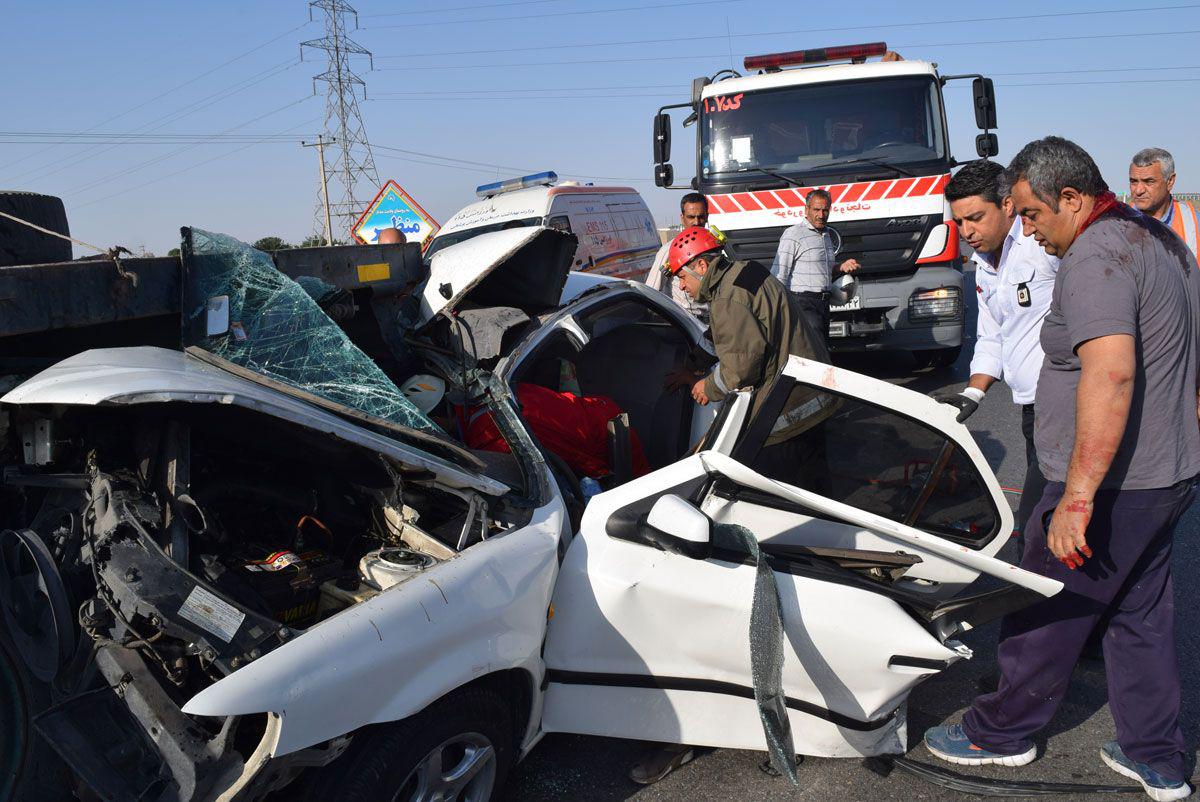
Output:
[[691,298],[709,305],[720,361],[691,388],[697,403],[769,384],[791,355],[829,361],[824,339],[794,309],[784,285],[757,262],[732,261],[707,228],[679,232],[664,269]]

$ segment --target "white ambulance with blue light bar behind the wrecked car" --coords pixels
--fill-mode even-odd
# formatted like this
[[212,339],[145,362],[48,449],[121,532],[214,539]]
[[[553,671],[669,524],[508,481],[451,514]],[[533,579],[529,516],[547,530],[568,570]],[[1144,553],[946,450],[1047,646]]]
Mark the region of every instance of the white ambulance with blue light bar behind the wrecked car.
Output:
[[574,270],[641,281],[661,245],[650,210],[637,190],[628,186],[559,181],[546,172],[485,184],[475,194],[479,200],[442,226],[425,251],[426,259],[488,232],[557,228],[580,241]]

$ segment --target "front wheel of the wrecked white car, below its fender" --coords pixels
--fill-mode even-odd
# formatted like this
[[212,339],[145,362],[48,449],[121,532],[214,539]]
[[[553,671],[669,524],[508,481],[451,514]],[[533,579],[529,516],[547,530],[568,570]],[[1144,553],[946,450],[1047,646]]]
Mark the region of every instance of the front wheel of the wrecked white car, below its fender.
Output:
[[[499,800],[516,759],[512,713],[496,693],[484,688],[455,692],[412,718],[355,735],[344,755],[310,772],[312,782],[301,780],[304,798]],[[452,766],[448,770],[446,764]],[[468,768],[473,770],[468,777],[454,778]],[[439,790],[443,796],[437,795]]]

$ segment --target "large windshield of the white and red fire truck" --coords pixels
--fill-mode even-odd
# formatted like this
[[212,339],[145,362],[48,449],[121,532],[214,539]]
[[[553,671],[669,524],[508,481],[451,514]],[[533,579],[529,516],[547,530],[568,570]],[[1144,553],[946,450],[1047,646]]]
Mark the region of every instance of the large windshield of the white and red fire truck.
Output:
[[924,76],[708,97],[701,114],[702,179],[946,157],[937,84]]

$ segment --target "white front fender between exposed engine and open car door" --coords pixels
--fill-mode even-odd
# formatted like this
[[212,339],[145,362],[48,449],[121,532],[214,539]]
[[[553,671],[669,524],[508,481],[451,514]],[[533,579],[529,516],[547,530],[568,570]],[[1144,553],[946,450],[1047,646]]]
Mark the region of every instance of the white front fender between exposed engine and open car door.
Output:
[[306,630],[193,696],[193,716],[272,712],[274,755],[407,718],[463,684],[540,664],[558,574],[557,498],[493,537]]

